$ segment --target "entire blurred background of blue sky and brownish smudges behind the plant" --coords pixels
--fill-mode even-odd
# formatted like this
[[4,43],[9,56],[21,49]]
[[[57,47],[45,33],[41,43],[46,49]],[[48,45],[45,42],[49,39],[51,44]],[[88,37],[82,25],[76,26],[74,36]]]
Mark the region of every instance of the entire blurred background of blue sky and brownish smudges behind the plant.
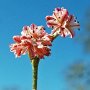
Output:
[[0,0],[0,90],[32,90],[32,66],[28,55],[15,58],[9,45],[22,27],[46,26],[46,15],[64,7],[77,17],[80,31],[73,39],[58,37],[51,55],[39,63],[38,90],[90,90],[89,0]]

